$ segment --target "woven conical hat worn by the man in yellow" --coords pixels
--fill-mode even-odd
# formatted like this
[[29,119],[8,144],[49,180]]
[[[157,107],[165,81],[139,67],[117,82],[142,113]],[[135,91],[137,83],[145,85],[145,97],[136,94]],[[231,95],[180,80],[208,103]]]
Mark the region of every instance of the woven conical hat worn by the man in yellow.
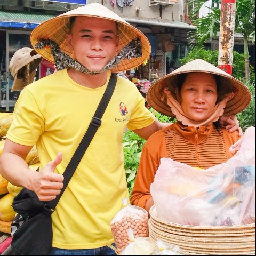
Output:
[[[124,59],[116,67],[111,69],[113,73],[118,71],[125,71],[131,68],[138,67],[145,60],[147,60],[151,53],[151,45],[148,38],[141,33],[140,30],[130,25],[114,12],[110,11],[105,6],[99,3],[92,3],[78,7],[67,13],[63,13],[58,17],[51,18],[38,25],[31,33],[30,41],[34,47],[42,39],[51,39],[59,44],[60,49],[68,54],[71,58],[75,59],[75,54],[66,42],[66,35],[69,33],[70,17],[71,16],[85,16],[95,17],[101,19],[113,20],[118,23],[118,39],[119,45],[117,47],[116,54],[121,51],[126,44],[132,41],[132,39],[139,37],[142,41],[142,56],[139,58]],[[54,59],[50,53],[50,49],[34,49],[46,60],[54,63]]]

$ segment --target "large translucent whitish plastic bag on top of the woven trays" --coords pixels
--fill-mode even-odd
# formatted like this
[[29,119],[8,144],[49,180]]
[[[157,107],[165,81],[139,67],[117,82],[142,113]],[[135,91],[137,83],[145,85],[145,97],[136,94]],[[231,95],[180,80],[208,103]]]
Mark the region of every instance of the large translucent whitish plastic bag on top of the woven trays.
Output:
[[255,223],[255,127],[226,163],[206,170],[162,158],[150,186],[158,218],[193,226]]

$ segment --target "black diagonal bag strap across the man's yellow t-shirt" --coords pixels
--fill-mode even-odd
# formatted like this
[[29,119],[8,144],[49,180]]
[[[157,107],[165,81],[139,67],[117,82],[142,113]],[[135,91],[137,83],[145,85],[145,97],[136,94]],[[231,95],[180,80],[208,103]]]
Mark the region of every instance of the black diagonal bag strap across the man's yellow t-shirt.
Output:
[[58,204],[60,197],[62,196],[64,190],[68,186],[69,180],[72,178],[79,162],[81,161],[82,157],[84,156],[84,153],[86,149],[88,148],[95,132],[98,130],[99,126],[101,125],[101,117],[103,116],[107,106],[108,102],[110,101],[111,96],[113,95],[113,92],[115,90],[116,86],[116,81],[117,81],[117,76],[113,73],[111,73],[108,86],[106,88],[105,93],[103,94],[101,101],[99,103],[98,108],[95,111],[94,116],[92,117],[92,121],[82,139],[80,142],[79,146],[77,147],[75,154],[71,158],[69,164],[66,167],[65,172],[63,173],[64,176],[64,186],[61,189],[61,193],[57,195],[57,197],[52,200],[48,201],[46,203],[47,207],[50,207],[50,209],[54,210],[56,205]]

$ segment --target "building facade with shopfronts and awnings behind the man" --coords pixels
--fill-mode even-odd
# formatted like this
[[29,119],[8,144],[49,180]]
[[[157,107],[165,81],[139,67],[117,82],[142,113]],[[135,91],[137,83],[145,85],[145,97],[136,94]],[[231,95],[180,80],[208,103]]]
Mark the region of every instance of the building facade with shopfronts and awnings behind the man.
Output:
[[[0,110],[12,111],[20,94],[20,91],[11,92],[10,60],[18,49],[32,47],[31,31],[43,21],[85,4],[98,2],[105,5],[148,37],[150,59],[146,67],[135,70],[135,75],[150,82],[169,73],[173,62],[175,68],[179,67],[179,59],[189,52],[189,33],[196,28],[188,18],[188,1],[0,0]],[[218,41],[206,45],[216,50]],[[52,73],[53,67],[53,63],[43,60],[36,79]]]

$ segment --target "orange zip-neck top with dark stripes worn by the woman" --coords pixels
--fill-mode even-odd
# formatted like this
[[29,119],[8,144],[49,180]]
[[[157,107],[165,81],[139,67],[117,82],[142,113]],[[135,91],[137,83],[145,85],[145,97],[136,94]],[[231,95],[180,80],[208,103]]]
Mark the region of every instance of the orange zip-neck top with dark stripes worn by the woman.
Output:
[[150,195],[150,185],[162,157],[170,157],[192,167],[210,168],[225,163],[234,154],[229,148],[238,137],[237,132],[229,133],[227,129],[214,126],[185,127],[176,122],[162,129],[147,140],[142,149],[131,203],[145,208]]

